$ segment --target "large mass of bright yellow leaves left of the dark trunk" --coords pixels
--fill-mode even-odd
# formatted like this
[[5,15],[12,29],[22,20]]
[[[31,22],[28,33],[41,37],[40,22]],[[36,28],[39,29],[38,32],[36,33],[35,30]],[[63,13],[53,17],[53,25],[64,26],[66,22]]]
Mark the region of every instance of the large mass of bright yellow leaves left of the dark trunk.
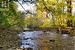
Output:
[[[52,27],[54,26],[53,23],[55,23],[57,27],[61,27],[61,26],[66,27],[67,16],[63,14],[64,6],[66,6],[64,1],[65,0],[38,0],[38,2],[36,3],[37,10],[36,10],[36,17],[35,17],[37,21],[33,20],[32,23],[33,24],[41,23],[39,27]],[[45,14],[47,13],[45,13],[44,11],[51,13],[54,19],[46,18]]]

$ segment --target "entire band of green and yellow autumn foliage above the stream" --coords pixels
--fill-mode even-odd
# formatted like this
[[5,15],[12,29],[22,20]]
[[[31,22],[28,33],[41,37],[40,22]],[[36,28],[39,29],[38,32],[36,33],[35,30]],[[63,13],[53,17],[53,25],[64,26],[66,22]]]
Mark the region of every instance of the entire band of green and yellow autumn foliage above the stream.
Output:
[[[1,11],[0,27],[67,27],[70,24],[68,20],[75,26],[75,17],[72,14],[72,1],[65,0],[37,0],[36,15],[24,16],[17,12],[17,7],[14,2],[9,2],[9,10]],[[67,7],[67,8],[66,8]],[[70,14],[70,15],[69,15]],[[21,22],[20,22],[21,21]]]

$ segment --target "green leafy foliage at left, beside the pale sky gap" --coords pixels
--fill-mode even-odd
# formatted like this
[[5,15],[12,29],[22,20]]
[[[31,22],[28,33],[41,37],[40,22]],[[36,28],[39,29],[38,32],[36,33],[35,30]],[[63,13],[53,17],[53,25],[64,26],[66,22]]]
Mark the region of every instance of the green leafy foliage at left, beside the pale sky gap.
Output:
[[11,2],[8,9],[8,11],[0,11],[0,27],[10,28],[18,23],[15,3]]

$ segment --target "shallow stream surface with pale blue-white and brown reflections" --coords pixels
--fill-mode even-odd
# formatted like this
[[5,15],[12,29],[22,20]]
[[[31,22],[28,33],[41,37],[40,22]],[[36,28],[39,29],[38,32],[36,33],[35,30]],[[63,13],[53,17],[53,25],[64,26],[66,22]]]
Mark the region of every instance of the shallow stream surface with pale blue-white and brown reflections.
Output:
[[30,31],[19,34],[20,48],[33,50],[74,50],[75,37],[52,31]]

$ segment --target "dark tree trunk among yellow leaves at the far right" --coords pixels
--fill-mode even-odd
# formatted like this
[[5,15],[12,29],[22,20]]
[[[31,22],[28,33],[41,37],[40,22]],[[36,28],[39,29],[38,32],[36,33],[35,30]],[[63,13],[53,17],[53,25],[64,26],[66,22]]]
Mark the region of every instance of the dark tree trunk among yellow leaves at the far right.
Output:
[[[67,16],[71,17],[72,16],[72,0],[67,0]],[[72,20],[67,21],[67,26],[72,27]]]

